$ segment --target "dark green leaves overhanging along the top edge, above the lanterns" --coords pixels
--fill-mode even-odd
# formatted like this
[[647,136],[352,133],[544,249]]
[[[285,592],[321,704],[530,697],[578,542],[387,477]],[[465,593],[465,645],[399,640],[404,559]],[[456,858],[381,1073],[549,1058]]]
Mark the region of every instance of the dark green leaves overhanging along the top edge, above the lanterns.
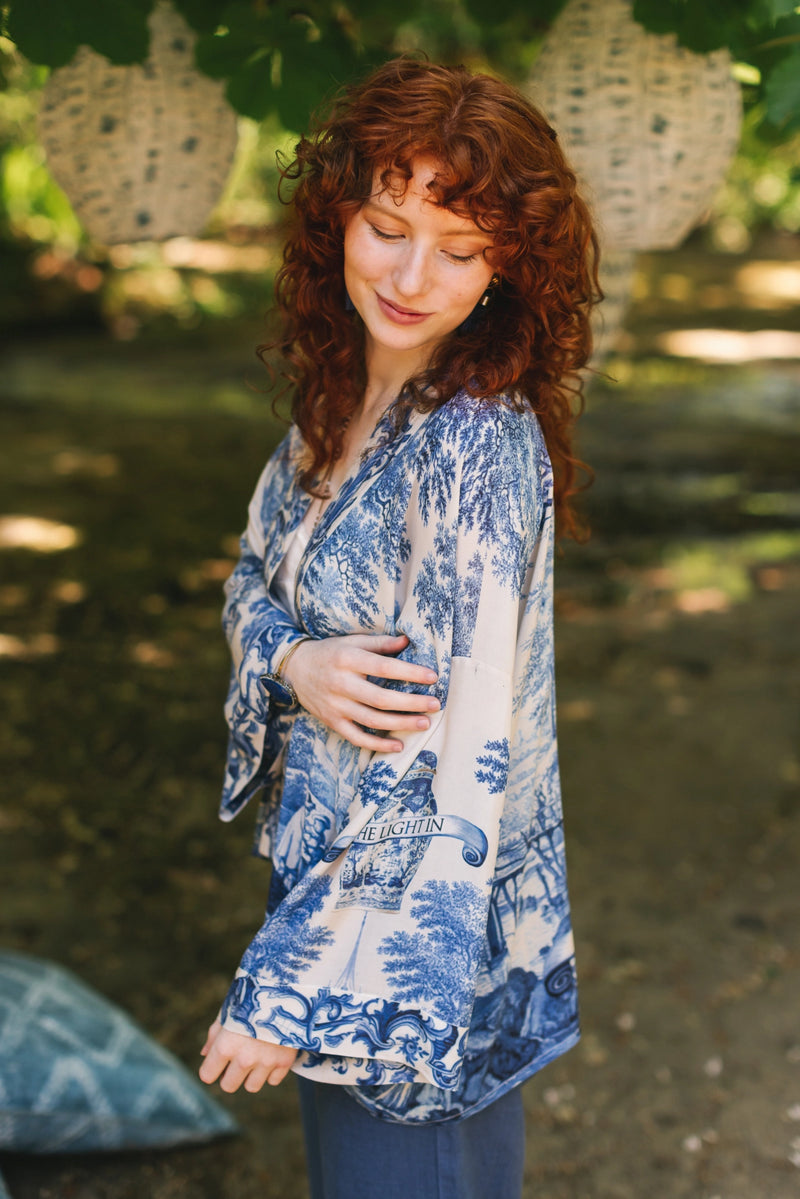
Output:
[[[6,32],[32,62],[58,67],[80,44],[140,62],[155,0],[6,0]],[[401,49],[445,61],[485,58],[512,78],[565,0],[174,0],[198,32],[197,62],[227,80],[237,112],[305,128],[338,84]],[[794,0],[633,0],[633,16],[696,53],[727,47],[758,72],[748,101],[782,134],[800,128],[800,14]]]

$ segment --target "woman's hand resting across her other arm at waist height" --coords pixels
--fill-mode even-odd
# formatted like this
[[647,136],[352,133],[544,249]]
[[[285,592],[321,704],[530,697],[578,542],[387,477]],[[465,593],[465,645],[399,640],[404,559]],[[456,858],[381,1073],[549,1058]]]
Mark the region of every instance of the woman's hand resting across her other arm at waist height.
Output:
[[[393,691],[367,676],[432,686],[437,674],[427,667],[398,661],[408,637],[353,633],[302,641],[287,662],[283,676],[312,716],[345,741],[379,753],[397,752],[403,742],[367,729],[417,733],[431,727],[426,712],[438,712],[433,695]],[[365,728],[366,725],[366,728]]]

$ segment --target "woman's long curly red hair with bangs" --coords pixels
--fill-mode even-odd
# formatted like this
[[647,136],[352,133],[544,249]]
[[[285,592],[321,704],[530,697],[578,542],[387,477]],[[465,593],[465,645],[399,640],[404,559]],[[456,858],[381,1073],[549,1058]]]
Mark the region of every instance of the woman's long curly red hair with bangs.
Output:
[[591,353],[589,314],[602,296],[597,242],[542,114],[509,84],[464,67],[386,62],[333,102],[282,169],[294,187],[276,279],[281,331],[258,354],[283,355],[308,447],[301,484],[313,492],[341,456],[366,385],[362,323],[345,309],[345,225],[373,192],[375,171],[396,191],[421,157],[439,164],[435,201],[491,234],[486,257],[500,284],[481,319],[450,333],[408,380],[398,415],[444,404],[464,387],[487,400],[525,397],[553,463],[560,531],[576,536],[570,496],[583,464],[571,441],[583,408],[578,372]]

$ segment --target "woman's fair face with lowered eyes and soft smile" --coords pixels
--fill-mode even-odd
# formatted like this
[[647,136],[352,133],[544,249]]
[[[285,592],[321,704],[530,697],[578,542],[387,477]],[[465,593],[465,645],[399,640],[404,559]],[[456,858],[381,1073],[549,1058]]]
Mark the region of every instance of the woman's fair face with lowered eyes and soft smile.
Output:
[[[344,283],[367,330],[375,364],[427,364],[470,314],[492,277],[492,239],[437,205],[427,189],[437,164],[420,158],[402,194],[375,189],[344,230]],[[377,357],[375,357],[377,355]]]

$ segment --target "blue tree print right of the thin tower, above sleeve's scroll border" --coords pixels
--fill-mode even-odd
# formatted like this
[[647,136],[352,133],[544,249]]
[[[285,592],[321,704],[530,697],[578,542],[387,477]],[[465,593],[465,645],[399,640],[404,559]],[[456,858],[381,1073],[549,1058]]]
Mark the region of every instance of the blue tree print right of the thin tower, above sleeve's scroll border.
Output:
[[486,900],[471,882],[431,880],[413,896],[415,933],[392,933],[378,952],[395,999],[451,1024],[469,1020],[481,960]]

